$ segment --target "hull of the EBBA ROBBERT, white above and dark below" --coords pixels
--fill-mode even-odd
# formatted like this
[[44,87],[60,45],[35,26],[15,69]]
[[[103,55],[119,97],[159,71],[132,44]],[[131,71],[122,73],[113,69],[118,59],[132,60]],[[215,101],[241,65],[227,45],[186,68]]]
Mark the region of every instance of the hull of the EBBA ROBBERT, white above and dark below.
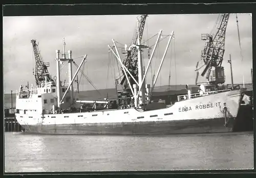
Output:
[[[144,112],[136,109],[65,114],[20,112],[16,113],[16,119],[26,132],[42,134],[232,132],[242,92],[243,89],[210,94],[178,101],[169,108]],[[17,107],[22,107],[22,99],[26,98],[17,98]]]

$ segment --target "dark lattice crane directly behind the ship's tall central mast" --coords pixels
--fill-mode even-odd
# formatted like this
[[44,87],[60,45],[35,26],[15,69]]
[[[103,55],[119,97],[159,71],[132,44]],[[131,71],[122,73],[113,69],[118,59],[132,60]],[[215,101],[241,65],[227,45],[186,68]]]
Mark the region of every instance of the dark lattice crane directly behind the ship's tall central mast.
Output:
[[[146,17],[147,17],[147,15],[141,15],[140,16],[139,33],[138,33],[138,30],[136,29],[135,30],[135,35],[134,35],[133,40],[132,40],[132,44],[137,44],[138,43],[138,41],[137,41],[138,38],[139,38],[139,40],[142,39]],[[131,72],[133,77],[138,82],[138,52],[137,52],[137,49],[136,49],[136,47],[132,47],[132,49],[130,51],[127,50],[126,53],[127,53],[126,54],[127,57],[123,60],[123,64]],[[122,69],[122,73],[124,75],[123,70],[124,69]],[[131,82],[132,85],[135,84],[135,82],[133,80],[131,80],[130,82]],[[125,78],[125,76],[123,76],[123,79],[121,80],[120,84],[124,87],[124,90],[130,90],[127,79]]]

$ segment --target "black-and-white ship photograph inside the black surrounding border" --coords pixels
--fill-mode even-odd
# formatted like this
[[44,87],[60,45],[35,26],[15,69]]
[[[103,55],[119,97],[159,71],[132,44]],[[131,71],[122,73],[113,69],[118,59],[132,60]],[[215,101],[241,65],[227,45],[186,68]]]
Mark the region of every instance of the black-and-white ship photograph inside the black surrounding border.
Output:
[[3,16],[5,172],[253,169],[251,13]]

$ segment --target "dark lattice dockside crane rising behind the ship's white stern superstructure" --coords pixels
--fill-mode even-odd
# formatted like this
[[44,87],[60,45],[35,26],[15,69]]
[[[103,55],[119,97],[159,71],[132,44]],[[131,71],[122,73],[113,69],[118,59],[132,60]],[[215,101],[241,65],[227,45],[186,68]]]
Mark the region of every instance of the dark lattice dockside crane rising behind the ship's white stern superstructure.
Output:
[[35,81],[36,85],[39,86],[44,83],[45,79],[47,82],[54,82],[51,75],[48,72],[48,67],[50,66],[49,62],[43,62],[42,57],[39,52],[38,44],[36,44],[36,40],[31,40],[34,56],[35,56]]

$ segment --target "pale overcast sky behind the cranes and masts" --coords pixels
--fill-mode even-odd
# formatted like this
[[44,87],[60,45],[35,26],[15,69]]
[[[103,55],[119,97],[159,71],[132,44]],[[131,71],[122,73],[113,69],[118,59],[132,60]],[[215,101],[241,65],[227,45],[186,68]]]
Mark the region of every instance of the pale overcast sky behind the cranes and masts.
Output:
[[[18,16],[3,17],[3,64],[4,90],[16,91],[20,84],[35,83],[32,69],[35,67],[31,40],[39,42],[39,49],[44,62],[50,62],[49,71],[56,73],[55,50],[63,49],[63,37],[66,40],[66,49],[73,51],[73,58],[77,65],[82,56],[88,55],[88,62],[84,65],[84,72],[98,89],[114,88],[114,73],[118,69],[113,66],[114,59],[109,62],[108,44],[112,39],[121,44],[130,44],[136,28],[138,15],[98,15],[98,16]],[[169,71],[170,84],[195,84],[195,66],[200,60],[201,50],[205,41],[201,34],[210,33],[214,28],[218,14],[187,14],[187,15],[149,15],[146,19],[143,40],[146,40],[160,30],[163,35],[174,31],[175,39],[169,46],[161,74],[157,82],[159,85],[168,85]],[[233,81],[251,83],[252,68],[252,27],[250,14],[238,14],[239,31],[242,46],[243,62],[240,55],[236,15],[230,14],[225,40],[225,54],[223,66],[225,68],[226,83],[231,83],[230,65],[227,62],[229,54],[232,59]],[[164,36],[163,36],[164,37]],[[154,45],[152,38],[149,45]],[[159,44],[153,59],[152,71],[157,71],[168,39]],[[121,44],[118,46],[121,47]],[[174,52],[175,44],[175,52]],[[67,52],[67,51],[66,51]],[[121,53],[121,50],[120,50]],[[144,52],[147,64],[147,55]],[[174,55],[175,54],[175,55]],[[174,60],[175,59],[175,60]],[[171,63],[170,63],[171,60]],[[175,62],[176,61],[176,62]],[[109,65],[110,63],[110,65]],[[175,71],[176,64],[176,71]],[[65,66],[61,80],[68,80]],[[75,73],[76,67],[73,68]],[[109,74],[108,74],[109,71]],[[79,75],[80,76],[80,75]],[[151,71],[148,73],[147,83],[151,83]],[[80,90],[91,90],[92,86],[82,79]]]

